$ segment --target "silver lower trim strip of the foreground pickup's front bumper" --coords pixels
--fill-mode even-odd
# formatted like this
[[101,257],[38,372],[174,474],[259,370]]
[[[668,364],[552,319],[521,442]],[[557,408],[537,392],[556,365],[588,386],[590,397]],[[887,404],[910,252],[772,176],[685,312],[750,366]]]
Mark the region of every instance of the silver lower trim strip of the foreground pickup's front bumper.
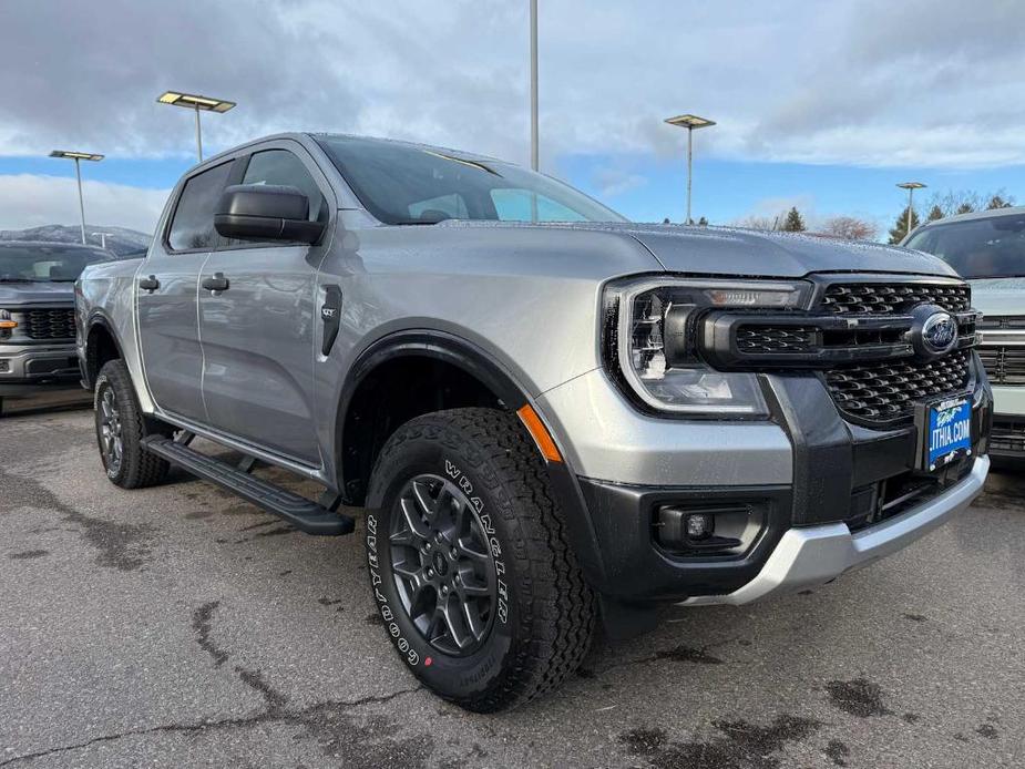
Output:
[[892,555],[967,507],[982,492],[988,471],[990,459],[978,457],[967,478],[946,492],[870,529],[851,533],[843,523],[791,529],[749,583],[732,593],[697,596],[681,605],[749,604],[831,582],[844,572]]

